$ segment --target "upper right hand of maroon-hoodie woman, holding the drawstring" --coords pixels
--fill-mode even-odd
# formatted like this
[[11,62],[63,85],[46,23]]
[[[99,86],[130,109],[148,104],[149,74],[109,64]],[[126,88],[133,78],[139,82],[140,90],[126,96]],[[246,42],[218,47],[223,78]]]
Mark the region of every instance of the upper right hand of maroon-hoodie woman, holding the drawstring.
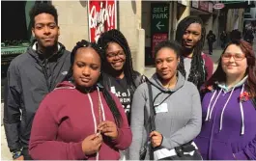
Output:
[[101,134],[116,139],[118,136],[117,125],[113,121],[102,121],[98,126],[98,130]]

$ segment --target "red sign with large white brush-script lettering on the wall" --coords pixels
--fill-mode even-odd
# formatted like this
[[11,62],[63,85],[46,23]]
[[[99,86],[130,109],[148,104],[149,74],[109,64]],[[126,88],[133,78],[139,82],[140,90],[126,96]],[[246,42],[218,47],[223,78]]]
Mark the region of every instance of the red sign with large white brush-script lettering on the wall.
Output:
[[97,41],[100,34],[117,28],[116,0],[88,0],[90,41]]

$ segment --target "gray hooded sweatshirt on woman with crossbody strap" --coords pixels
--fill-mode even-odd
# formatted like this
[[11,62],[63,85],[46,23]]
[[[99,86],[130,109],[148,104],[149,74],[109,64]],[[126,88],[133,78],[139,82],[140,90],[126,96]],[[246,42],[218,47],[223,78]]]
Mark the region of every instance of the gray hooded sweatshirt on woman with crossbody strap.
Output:
[[[174,89],[162,87],[156,73],[150,82],[153,100],[155,99],[156,131],[163,136],[161,147],[172,149],[193,140],[199,134],[202,124],[202,107],[197,88],[186,81],[180,72],[178,72],[178,81]],[[165,99],[169,94],[171,95]],[[133,139],[128,150],[130,160],[139,159],[139,151],[149,136],[144,126],[144,111],[148,113],[147,116],[150,116],[147,83],[137,88],[132,99],[130,126]],[[148,151],[147,160],[149,159]]]

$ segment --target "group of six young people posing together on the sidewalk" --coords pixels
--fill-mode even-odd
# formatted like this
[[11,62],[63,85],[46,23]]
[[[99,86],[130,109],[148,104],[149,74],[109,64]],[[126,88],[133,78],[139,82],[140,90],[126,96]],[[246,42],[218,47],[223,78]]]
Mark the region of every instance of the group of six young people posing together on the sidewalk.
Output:
[[36,4],[30,16],[36,41],[12,61],[5,88],[14,160],[138,160],[144,145],[152,159],[155,149],[191,141],[203,159],[256,159],[256,64],[247,42],[229,43],[213,73],[203,22],[187,16],[176,40],[156,45],[148,79],[132,68],[120,31],[78,41],[70,53],[58,42],[53,6]]

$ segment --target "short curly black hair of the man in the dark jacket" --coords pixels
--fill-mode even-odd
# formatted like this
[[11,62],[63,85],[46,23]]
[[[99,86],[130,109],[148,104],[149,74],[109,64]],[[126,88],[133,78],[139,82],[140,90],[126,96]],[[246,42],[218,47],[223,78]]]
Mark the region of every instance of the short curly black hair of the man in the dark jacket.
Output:
[[49,3],[36,3],[29,12],[31,26],[35,26],[35,16],[41,13],[49,13],[54,17],[56,24],[58,25],[58,13],[56,8]]

